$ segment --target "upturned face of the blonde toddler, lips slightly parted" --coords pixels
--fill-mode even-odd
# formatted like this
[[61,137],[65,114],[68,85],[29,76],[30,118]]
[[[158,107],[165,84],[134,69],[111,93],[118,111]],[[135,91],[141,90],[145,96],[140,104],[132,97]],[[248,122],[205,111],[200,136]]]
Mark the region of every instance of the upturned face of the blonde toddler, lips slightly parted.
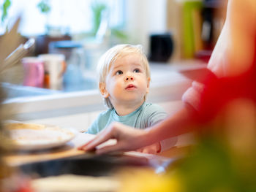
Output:
[[118,58],[110,66],[105,85],[100,88],[102,96],[116,104],[143,103],[148,93],[150,78],[146,77],[146,68],[140,62],[139,53],[129,53]]

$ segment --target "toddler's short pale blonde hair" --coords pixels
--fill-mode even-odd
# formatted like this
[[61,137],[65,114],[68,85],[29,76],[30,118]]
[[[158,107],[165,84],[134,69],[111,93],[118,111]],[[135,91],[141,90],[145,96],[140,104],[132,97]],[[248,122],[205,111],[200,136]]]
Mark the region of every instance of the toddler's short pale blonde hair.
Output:
[[[123,57],[129,53],[139,53],[141,55],[140,62],[145,66],[146,69],[146,77],[150,78],[150,69],[148,64],[148,59],[146,58],[146,54],[143,51],[143,47],[141,45],[129,45],[129,44],[121,44],[111,47],[106,53],[104,53],[100,58],[97,65],[97,73],[99,84],[104,82],[110,70],[110,66],[115,63],[118,58]],[[105,106],[112,109],[113,105],[110,102],[109,98],[105,98]],[[146,96],[144,97],[146,100]]]

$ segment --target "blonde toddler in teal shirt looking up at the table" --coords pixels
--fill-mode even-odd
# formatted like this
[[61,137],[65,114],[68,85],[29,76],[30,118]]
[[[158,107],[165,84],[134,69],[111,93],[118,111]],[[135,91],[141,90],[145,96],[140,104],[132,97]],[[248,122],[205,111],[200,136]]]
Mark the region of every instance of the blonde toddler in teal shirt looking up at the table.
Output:
[[[99,114],[87,133],[97,134],[115,121],[135,128],[148,128],[166,118],[167,113],[162,107],[146,102],[151,79],[141,45],[110,48],[99,58],[97,72],[99,91],[108,110]],[[171,138],[140,151],[159,153],[175,144],[176,138]]]

